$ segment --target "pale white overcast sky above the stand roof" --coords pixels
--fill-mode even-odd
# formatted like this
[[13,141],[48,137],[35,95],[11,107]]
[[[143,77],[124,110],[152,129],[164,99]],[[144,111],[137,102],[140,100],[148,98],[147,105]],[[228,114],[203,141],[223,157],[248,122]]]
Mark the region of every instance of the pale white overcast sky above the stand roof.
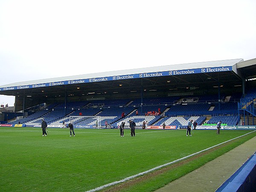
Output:
[[256,58],[255,10],[256,0],[0,0],[0,87]]

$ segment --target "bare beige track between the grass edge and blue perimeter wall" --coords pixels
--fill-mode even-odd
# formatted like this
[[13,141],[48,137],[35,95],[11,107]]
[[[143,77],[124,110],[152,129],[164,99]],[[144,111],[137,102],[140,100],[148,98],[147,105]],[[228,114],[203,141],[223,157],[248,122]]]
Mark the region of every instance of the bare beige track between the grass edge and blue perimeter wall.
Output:
[[215,192],[256,151],[256,137],[155,192]]

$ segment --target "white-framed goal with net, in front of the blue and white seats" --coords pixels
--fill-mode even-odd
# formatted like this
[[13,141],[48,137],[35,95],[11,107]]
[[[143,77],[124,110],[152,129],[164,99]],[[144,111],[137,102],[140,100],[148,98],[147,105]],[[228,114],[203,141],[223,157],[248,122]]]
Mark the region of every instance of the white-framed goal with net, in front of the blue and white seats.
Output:
[[77,128],[100,128],[100,116],[70,116],[69,121]]

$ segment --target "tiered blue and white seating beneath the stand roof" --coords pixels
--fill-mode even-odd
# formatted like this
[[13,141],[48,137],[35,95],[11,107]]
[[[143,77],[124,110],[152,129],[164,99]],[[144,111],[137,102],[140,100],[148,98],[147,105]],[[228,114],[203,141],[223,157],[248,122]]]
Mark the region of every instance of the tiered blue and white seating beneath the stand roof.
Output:
[[[254,96],[254,92],[250,93],[250,97]],[[256,95],[256,94],[255,94]],[[40,109],[31,115],[11,121],[12,124],[26,124],[27,126],[33,126],[41,124],[41,119],[44,118],[48,125],[62,125],[64,121],[66,124],[69,122],[70,116],[79,116],[73,119],[74,125],[95,125],[97,118],[90,118],[84,116],[100,116],[99,125],[101,128],[105,128],[105,122],[111,128],[117,128],[121,122],[125,122],[125,125],[129,125],[130,119],[134,120],[137,126],[142,126],[143,122],[148,122],[148,125],[180,125],[180,128],[186,128],[187,122],[192,119],[202,125],[216,124],[218,121],[227,125],[238,125],[239,116],[237,115],[238,103],[234,100],[228,102],[220,103],[220,110],[218,102],[208,103],[206,101],[216,101],[215,96],[211,98],[210,96],[201,97],[206,100],[197,100],[197,102],[190,102],[186,105],[174,104],[175,101],[179,100],[176,96],[174,98],[148,98],[145,101],[145,105],[140,106],[139,99],[134,99],[134,101],[127,99],[118,99],[116,102],[111,100],[101,100],[93,102],[68,102],[66,104],[66,110],[64,109],[64,103],[54,103],[49,105],[44,109]],[[237,96],[234,96],[237,100]],[[188,99],[188,98],[186,98]],[[185,99],[185,100],[186,100]],[[183,98],[184,100],[184,98]],[[93,103],[93,107],[90,105]],[[95,104],[101,103],[102,107],[95,107]],[[128,104],[128,105],[127,105]],[[148,111],[161,111],[158,115],[147,115]],[[136,114],[136,111],[140,111]],[[141,112],[143,111],[143,112]],[[210,113],[209,113],[210,112]],[[121,114],[125,113],[125,117]],[[210,115],[209,115],[210,114]],[[207,121],[206,116],[210,116]]]

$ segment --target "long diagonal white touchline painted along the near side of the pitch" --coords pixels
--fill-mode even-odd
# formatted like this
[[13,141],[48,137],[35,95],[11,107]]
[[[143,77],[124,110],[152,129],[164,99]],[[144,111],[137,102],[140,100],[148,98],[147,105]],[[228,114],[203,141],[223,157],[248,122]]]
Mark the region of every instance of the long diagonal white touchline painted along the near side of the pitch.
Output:
[[[255,131],[256,131],[256,130],[255,130]],[[252,132],[250,132],[250,133],[253,133],[253,132],[255,132],[255,131],[252,131]],[[247,134],[250,134],[250,133],[247,133]],[[239,136],[239,137],[243,137],[243,136],[245,136],[245,135],[247,135],[247,134],[241,135],[241,136]],[[101,190],[101,189],[104,189],[105,187],[109,187],[109,186],[112,186],[112,185],[115,185],[115,184],[118,184],[118,183],[125,182],[125,181],[130,180],[130,179],[134,179],[135,177],[138,177],[138,176],[147,174],[147,173],[152,172],[152,171],[154,171],[154,170],[160,169],[160,168],[162,168],[162,167],[164,167],[164,166],[171,165],[171,164],[176,163],[176,162],[178,162],[178,161],[180,161],[180,160],[184,160],[184,159],[186,159],[186,158],[188,158],[188,157],[191,157],[191,156],[193,156],[193,155],[195,155],[195,154],[199,154],[199,153],[201,153],[201,152],[203,152],[203,151],[207,151],[207,150],[209,150],[209,149],[211,149],[211,148],[214,148],[214,147],[216,147],[216,146],[218,146],[218,145],[222,145],[222,144],[227,143],[227,142],[229,142],[229,141],[235,140],[235,139],[237,139],[237,138],[239,138],[239,137],[233,138],[233,139],[231,139],[231,140],[227,140],[227,141],[225,141],[225,142],[223,142],[223,143],[219,143],[219,144],[217,144],[217,145],[214,145],[214,146],[209,147],[209,148],[206,148],[206,149],[204,149],[204,150],[202,150],[202,151],[198,151],[198,152],[196,152],[196,153],[190,154],[190,155],[188,155],[188,156],[186,156],[186,157],[182,157],[182,158],[180,158],[180,159],[174,160],[174,161],[172,161],[172,162],[169,162],[169,163],[166,163],[166,164],[163,164],[163,165],[154,167],[154,168],[149,169],[149,170],[147,170],[147,171],[145,171],[145,172],[141,172],[141,173],[138,173],[138,174],[136,174],[136,175],[132,175],[132,176],[130,176],[130,177],[126,177],[126,178],[124,178],[124,179],[122,179],[122,180],[114,181],[114,182],[112,182],[112,183],[108,183],[108,184],[106,184],[106,185],[99,186],[99,187],[97,187],[97,188],[95,188],[95,189],[91,189],[91,190],[86,191],[86,192],[95,192],[95,191],[99,191],[99,190]]]

